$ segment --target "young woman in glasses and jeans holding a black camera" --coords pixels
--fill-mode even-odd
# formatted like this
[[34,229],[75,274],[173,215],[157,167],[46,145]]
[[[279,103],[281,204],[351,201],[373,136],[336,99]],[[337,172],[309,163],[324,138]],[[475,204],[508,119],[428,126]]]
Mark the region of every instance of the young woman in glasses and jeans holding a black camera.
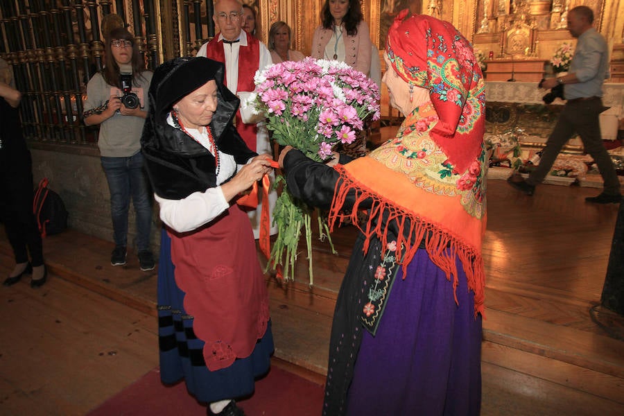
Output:
[[105,67],[87,84],[83,114],[86,125],[100,125],[98,147],[110,190],[110,211],[115,248],[110,263],[125,265],[128,245],[130,196],[137,219],[137,251],[141,270],[152,270],[150,250],[152,209],[143,172],[141,132],[147,116],[146,93],[152,72],[135,48],[126,28],[114,28],[106,38]]

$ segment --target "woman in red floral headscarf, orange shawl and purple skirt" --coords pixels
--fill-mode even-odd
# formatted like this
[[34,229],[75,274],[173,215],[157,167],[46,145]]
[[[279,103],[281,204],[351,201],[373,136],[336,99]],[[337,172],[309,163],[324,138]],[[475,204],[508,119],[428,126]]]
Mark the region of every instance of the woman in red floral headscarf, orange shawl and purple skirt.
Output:
[[483,74],[456,28],[407,10],[384,58],[405,116],[397,137],[332,167],[280,155],[293,195],[361,230],[336,302],[323,412],[478,415]]

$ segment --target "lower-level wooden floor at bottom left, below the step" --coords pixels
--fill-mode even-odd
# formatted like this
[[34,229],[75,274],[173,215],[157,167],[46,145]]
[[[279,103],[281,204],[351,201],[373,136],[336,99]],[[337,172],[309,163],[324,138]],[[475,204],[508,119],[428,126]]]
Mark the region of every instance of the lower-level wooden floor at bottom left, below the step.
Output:
[[158,365],[152,315],[49,278],[0,288],[2,415],[85,415]]

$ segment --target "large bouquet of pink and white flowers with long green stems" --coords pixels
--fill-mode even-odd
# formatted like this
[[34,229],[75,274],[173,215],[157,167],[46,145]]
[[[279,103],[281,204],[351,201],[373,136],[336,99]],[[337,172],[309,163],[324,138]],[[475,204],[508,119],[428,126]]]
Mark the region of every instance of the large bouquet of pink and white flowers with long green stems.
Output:
[[[350,144],[356,132],[363,130],[367,119],[380,118],[379,87],[364,73],[344,62],[306,58],[300,62],[281,62],[258,71],[256,89],[250,100],[267,118],[272,139],[290,145],[307,157],[323,162],[333,157],[338,143]],[[311,214],[313,209],[295,200],[284,185],[273,211],[277,240],[267,267],[283,270],[284,279],[292,279],[298,244],[304,229],[309,260],[310,284],[313,284]],[[329,238],[324,216],[318,215],[320,239]]]

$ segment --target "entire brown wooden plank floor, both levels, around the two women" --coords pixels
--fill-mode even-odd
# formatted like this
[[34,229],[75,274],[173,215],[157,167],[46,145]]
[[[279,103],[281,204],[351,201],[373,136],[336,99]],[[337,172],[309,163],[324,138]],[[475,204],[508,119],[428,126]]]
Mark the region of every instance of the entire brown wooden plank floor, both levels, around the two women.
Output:
[[[624,343],[589,314],[600,300],[618,209],[584,202],[598,192],[543,185],[527,197],[488,182],[482,415],[624,414]],[[268,277],[277,357],[326,371],[354,236],[352,227],[336,230],[338,255],[315,245],[313,288],[304,254],[297,281]],[[157,365],[156,272],[140,272],[132,254],[113,268],[112,243],[71,230],[50,236],[44,250],[61,278],[51,276],[41,291],[26,283],[0,289],[2,316],[19,317],[0,327],[3,415],[83,414]],[[1,232],[0,259],[3,276],[12,261]],[[612,322],[621,330],[621,320]]]

